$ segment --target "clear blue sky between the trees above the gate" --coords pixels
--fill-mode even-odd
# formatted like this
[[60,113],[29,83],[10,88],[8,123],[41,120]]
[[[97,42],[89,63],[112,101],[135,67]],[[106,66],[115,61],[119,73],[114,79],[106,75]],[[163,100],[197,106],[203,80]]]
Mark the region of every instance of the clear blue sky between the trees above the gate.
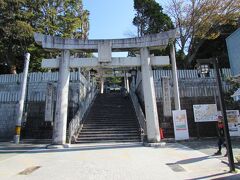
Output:
[[[160,5],[168,0],[157,0]],[[132,25],[133,0],[83,0],[90,11],[89,39],[127,38],[136,34]]]

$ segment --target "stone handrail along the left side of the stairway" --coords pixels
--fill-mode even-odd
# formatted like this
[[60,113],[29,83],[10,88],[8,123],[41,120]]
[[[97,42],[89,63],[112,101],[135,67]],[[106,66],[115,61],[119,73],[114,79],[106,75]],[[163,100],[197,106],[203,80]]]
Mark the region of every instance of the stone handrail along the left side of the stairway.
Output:
[[76,141],[77,135],[82,127],[82,120],[90,109],[98,90],[94,87],[93,90],[88,91],[83,103],[79,106],[78,111],[69,123],[68,127],[68,141],[71,144]]

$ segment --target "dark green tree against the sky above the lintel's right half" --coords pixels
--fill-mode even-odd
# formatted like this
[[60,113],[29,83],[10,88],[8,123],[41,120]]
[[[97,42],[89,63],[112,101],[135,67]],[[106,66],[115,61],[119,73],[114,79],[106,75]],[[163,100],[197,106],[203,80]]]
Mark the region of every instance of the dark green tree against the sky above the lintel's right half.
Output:
[[173,28],[168,15],[155,0],[134,0],[136,10],[133,25],[137,27],[138,36],[159,33]]

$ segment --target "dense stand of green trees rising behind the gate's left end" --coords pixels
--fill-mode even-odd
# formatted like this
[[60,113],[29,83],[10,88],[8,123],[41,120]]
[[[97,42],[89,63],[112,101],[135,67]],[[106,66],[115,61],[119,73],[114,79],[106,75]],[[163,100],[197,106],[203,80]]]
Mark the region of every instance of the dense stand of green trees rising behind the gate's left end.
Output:
[[38,70],[39,60],[51,53],[34,44],[33,32],[86,39],[88,16],[81,0],[0,0],[0,62],[19,66],[30,51],[30,67]]

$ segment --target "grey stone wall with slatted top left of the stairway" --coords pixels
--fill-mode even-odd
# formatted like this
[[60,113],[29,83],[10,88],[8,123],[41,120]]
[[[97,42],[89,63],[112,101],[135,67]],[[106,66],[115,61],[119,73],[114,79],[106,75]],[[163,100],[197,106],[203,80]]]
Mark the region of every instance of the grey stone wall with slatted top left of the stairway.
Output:
[[[54,83],[55,89],[57,84]],[[81,86],[82,88],[83,86]],[[68,122],[78,108],[80,84],[71,82],[69,88]],[[27,120],[23,123],[21,138],[51,139],[53,122],[45,121],[47,83],[29,83],[27,92]],[[0,140],[10,140],[15,133],[19,83],[0,84]],[[4,96],[3,96],[4,95]],[[54,97],[56,100],[56,90]],[[25,104],[26,105],[26,104]],[[24,105],[24,106],[25,106]],[[24,119],[24,118],[23,118]],[[53,117],[54,119],[54,117]]]

